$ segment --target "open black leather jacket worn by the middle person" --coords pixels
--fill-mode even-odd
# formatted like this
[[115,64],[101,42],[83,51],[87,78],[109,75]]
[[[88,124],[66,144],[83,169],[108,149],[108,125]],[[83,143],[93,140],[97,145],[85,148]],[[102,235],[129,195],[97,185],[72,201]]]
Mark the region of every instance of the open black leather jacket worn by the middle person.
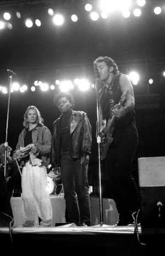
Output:
[[[69,151],[73,158],[80,158],[83,155],[91,155],[92,132],[91,124],[83,111],[72,111],[70,118],[70,139]],[[61,158],[61,126],[60,119],[53,123],[52,135],[52,167],[60,166]]]

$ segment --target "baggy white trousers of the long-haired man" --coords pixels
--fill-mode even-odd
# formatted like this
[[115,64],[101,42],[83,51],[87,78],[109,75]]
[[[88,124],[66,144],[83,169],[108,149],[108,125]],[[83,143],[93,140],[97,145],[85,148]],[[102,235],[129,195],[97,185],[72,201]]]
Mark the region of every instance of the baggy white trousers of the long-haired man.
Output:
[[27,161],[22,171],[21,186],[23,226],[33,226],[37,215],[41,219],[41,226],[52,226],[52,205],[46,167],[32,166]]

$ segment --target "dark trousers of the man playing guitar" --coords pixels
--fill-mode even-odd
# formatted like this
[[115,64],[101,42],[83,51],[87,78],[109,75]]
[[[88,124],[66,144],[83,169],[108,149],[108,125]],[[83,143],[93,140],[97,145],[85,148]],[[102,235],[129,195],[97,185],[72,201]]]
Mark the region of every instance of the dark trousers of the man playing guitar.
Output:
[[111,196],[119,214],[139,209],[139,193],[131,174],[132,162],[138,146],[138,131],[134,123],[115,129],[105,165]]

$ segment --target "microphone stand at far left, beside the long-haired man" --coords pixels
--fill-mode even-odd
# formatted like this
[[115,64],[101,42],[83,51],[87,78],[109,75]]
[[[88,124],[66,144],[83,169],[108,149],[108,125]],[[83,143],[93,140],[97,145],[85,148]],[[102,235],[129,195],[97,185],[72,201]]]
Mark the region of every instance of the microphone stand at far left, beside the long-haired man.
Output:
[[[10,94],[11,94],[11,87],[12,87],[12,74],[16,75],[12,70],[7,68],[8,77],[9,77],[9,97],[8,97],[8,112],[7,112],[7,124],[6,124],[6,131],[5,131],[5,143],[4,143],[4,177],[6,176],[7,172],[7,150],[8,150],[8,123],[9,123],[9,108],[10,108]],[[10,74],[9,74],[10,73]]]

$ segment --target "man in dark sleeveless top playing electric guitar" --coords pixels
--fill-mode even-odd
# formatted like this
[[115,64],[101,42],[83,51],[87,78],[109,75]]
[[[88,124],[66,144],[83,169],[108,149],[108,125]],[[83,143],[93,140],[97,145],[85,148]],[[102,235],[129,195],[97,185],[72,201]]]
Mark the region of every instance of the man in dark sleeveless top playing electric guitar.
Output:
[[134,90],[112,58],[98,57],[95,64],[99,80],[104,83],[99,91],[101,157],[105,159],[109,190],[119,213],[117,226],[126,226],[133,224],[139,210],[138,189],[131,174],[138,146]]

